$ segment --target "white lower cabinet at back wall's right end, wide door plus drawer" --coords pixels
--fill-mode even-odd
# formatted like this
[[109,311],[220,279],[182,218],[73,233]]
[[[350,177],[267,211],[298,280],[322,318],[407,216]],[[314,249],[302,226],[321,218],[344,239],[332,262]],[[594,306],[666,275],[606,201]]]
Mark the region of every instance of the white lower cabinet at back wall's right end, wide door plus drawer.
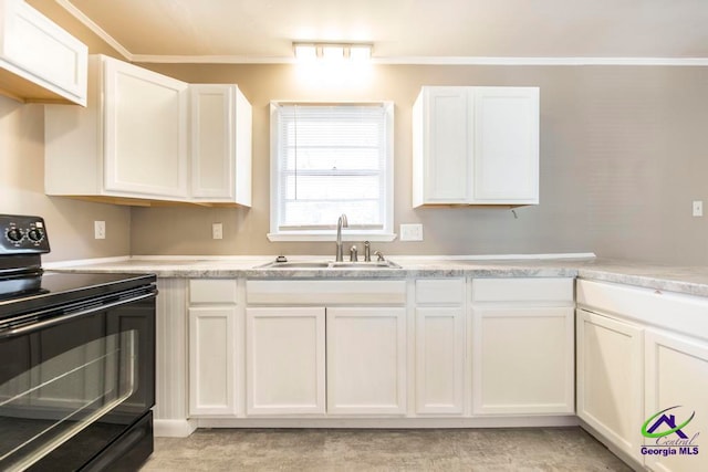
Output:
[[473,415],[572,415],[572,279],[472,282]]

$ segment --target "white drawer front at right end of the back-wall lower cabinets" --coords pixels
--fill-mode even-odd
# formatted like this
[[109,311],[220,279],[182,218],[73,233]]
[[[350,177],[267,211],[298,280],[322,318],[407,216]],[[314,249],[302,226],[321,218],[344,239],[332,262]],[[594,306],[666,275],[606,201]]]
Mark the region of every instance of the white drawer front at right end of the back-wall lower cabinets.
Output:
[[475,279],[473,302],[573,303],[573,279]]

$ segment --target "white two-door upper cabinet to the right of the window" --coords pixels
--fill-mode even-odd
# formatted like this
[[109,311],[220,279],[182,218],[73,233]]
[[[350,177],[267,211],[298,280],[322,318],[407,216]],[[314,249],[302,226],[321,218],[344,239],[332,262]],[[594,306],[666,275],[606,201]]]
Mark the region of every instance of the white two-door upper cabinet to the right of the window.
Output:
[[539,202],[538,87],[425,86],[413,139],[414,207]]

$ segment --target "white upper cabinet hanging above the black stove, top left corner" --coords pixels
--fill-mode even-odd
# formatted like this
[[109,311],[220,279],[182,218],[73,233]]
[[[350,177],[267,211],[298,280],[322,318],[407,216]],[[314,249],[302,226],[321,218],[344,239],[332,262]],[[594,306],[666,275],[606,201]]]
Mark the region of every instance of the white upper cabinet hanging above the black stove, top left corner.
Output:
[[0,93],[86,105],[88,49],[22,0],[0,0]]

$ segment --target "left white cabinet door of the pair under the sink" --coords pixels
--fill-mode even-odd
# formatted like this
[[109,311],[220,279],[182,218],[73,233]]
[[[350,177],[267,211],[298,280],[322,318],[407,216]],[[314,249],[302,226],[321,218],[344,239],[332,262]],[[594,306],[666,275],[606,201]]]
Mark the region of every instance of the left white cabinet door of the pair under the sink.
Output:
[[324,308],[246,310],[247,413],[324,415]]

